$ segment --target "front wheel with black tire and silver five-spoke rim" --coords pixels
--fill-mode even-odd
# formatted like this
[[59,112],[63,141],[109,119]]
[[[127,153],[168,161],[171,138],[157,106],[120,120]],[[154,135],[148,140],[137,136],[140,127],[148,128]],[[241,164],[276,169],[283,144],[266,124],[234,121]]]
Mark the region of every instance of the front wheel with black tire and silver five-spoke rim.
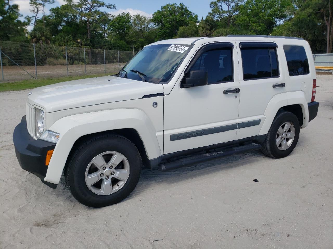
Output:
[[[117,157],[118,155],[120,157]],[[101,157],[103,163],[98,160]],[[117,164],[118,166],[112,167],[117,163],[111,162],[116,161],[113,158],[122,157],[124,159]],[[139,150],[129,139],[117,134],[98,135],[85,141],[75,150],[66,165],[65,182],[74,198],[83,205],[106,207],[124,200],[131,194],[138,184],[141,169],[142,160]],[[97,171],[90,173],[95,170]],[[122,181],[116,178],[120,171],[125,176],[120,175]],[[91,185],[92,180],[95,179],[89,176],[100,178],[100,180]]]

